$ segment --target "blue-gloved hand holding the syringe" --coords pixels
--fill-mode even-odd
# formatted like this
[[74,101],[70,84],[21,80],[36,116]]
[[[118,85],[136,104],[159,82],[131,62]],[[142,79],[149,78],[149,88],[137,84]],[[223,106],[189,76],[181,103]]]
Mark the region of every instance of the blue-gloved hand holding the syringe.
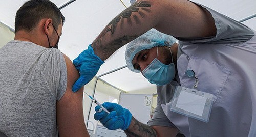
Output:
[[126,108],[116,103],[105,102],[102,104],[110,114],[100,111],[100,106],[95,107],[96,113],[94,114],[94,119],[99,120],[106,128],[110,130],[116,130],[121,128],[122,130],[128,129],[132,121],[132,114]]

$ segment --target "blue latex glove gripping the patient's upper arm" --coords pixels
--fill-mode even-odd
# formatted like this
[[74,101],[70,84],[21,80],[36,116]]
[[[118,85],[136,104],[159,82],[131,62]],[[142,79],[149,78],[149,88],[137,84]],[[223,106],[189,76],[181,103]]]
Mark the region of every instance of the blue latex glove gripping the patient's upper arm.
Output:
[[94,54],[91,44],[88,49],[83,50],[79,56],[73,60],[73,64],[79,71],[80,77],[72,87],[72,91],[76,92],[82,86],[89,83],[97,74],[100,66],[104,63],[98,56]]

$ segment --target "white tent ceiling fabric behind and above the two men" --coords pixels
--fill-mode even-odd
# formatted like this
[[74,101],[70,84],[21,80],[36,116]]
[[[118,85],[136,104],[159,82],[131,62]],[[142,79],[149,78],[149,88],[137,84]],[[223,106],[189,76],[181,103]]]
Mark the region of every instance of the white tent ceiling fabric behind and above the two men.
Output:
[[[17,9],[25,1],[12,0],[2,2],[0,5],[0,21],[14,28],[14,18]],[[68,0],[53,0],[58,7],[68,2]],[[195,0],[233,19],[241,20],[247,16],[255,14],[255,0]],[[130,6],[129,0],[123,0],[126,6]],[[87,49],[88,45],[98,36],[101,30],[111,19],[125,9],[119,0],[77,0],[61,12],[66,17],[63,26],[62,36],[59,42],[59,49],[73,60],[80,52]],[[256,18],[252,18],[244,23],[256,30]],[[97,75],[109,72],[113,69],[126,65],[124,60],[125,46],[120,48],[110,59],[101,66]],[[138,92],[139,90],[155,93],[155,86],[148,84],[147,80],[141,76],[130,72],[127,68],[119,70],[101,77],[108,83],[128,92]]]

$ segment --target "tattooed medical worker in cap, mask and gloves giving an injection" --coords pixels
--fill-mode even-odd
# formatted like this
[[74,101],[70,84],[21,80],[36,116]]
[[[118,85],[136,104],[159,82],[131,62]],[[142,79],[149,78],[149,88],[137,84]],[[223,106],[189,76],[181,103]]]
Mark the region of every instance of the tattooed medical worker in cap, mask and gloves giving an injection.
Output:
[[[190,1],[137,1],[125,9],[73,61],[80,71],[73,91],[88,83],[118,48],[152,28],[174,36],[179,46],[169,50],[151,37],[159,45],[131,58],[135,70],[159,85],[151,126],[113,103],[103,104],[109,115],[96,113],[95,119],[130,136],[175,136],[178,131],[185,136],[256,136],[255,31]],[[165,62],[169,56],[172,61]]]

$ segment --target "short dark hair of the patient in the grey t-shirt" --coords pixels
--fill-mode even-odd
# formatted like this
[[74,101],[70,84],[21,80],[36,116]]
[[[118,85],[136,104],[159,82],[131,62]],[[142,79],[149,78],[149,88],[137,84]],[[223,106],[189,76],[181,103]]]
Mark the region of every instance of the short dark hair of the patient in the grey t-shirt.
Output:
[[30,0],[23,4],[16,13],[15,33],[19,30],[32,31],[43,18],[51,18],[54,27],[64,23],[65,17],[58,7],[49,0]]

